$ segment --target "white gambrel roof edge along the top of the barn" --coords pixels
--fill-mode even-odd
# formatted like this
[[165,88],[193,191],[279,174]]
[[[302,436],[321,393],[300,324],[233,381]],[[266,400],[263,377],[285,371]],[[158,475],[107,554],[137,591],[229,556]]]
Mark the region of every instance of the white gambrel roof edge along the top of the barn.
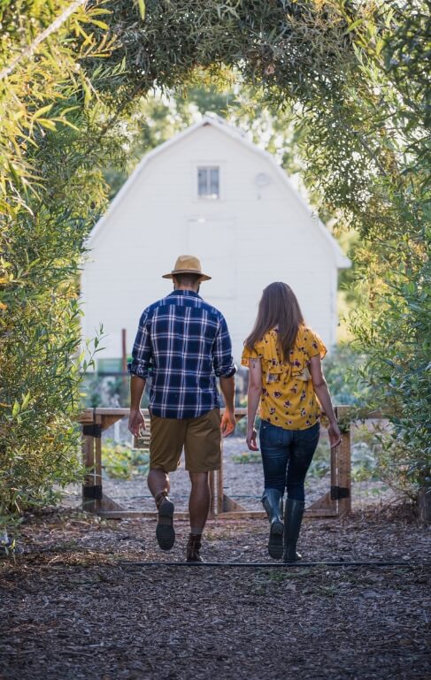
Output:
[[[136,180],[138,180],[143,169],[146,168],[146,166],[151,162],[151,160],[154,157],[157,157],[159,154],[164,153],[166,149],[170,149],[171,147],[173,147],[179,141],[184,140],[190,134],[193,134],[200,127],[205,126],[215,127],[223,134],[227,134],[228,136],[235,139],[235,141],[240,142],[242,145],[244,145],[247,149],[249,149],[253,153],[259,154],[261,157],[265,158],[266,163],[270,163],[273,166],[273,170],[278,174],[279,178],[281,179],[281,182],[284,183],[284,185],[289,189],[289,192],[295,195],[296,200],[303,205],[304,209],[307,212],[309,213],[312,212],[310,206],[307,205],[307,203],[304,201],[304,198],[299,194],[299,192],[293,186],[292,182],[289,180],[287,172],[285,172],[281,168],[281,166],[276,163],[274,157],[270,153],[268,153],[268,151],[266,151],[265,149],[260,149],[258,146],[256,146],[256,144],[254,144],[246,137],[246,134],[242,132],[242,130],[235,126],[230,125],[224,118],[220,118],[215,113],[206,113],[202,120],[198,121],[192,126],[187,127],[181,133],[175,134],[170,140],[165,141],[162,144],[159,144],[158,147],[156,147],[155,149],[151,149],[151,151],[149,151],[147,154],[145,154],[145,156],[142,157],[142,160],[135,167],[134,172],[132,172],[128,180],[119,189],[119,192],[111,202],[109,209],[106,211],[104,216],[98,220],[92,232],[89,234],[88,241],[89,246],[91,246],[91,243],[95,239],[96,235],[103,230],[105,222],[110,218],[112,212],[117,208],[119,203],[121,203],[123,199],[126,197],[127,192],[134,186]],[[343,255],[342,249],[340,248],[338,242],[335,240],[332,234],[327,230],[327,227],[319,220],[319,218],[313,219],[313,224],[316,225],[316,228],[319,230],[321,235],[327,240],[330,248],[334,253],[335,264],[338,267],[338,269],[345,269],[347,267],[350,267],[350,259]]]

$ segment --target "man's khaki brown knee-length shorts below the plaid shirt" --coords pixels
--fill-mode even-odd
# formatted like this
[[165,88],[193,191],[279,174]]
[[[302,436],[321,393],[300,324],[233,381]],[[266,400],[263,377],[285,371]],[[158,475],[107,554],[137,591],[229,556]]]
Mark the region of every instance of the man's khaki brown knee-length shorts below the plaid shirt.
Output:
[[173,472],[184,447],[186,470],[219,470],[221,460],[220,411],[212,409],[196,418],[150,416],[150,469]]

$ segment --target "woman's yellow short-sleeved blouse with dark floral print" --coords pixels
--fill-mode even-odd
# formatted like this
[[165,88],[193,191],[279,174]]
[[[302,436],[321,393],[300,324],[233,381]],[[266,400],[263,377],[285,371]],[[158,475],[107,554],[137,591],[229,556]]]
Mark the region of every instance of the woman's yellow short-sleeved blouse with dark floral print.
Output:
[[262,364],[262,396],[260,417],[285,430],[306,430],[319,420],[320,405],[312,387],[309,371],[312,356],[327,354],[319,335],[301,325],[295,347],[290,350],[289,362],[281,361],[276,330],[268,331],[253,351],[244,348],[242,366],[250,359]]

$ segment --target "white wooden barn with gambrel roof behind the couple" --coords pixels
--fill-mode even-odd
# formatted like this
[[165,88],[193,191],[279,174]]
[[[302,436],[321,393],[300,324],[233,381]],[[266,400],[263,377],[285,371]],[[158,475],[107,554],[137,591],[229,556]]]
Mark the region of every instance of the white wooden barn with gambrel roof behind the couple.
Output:
[[[239,362],[262,289],[289,283],[306,321],[335,344],[337,271],[350,261],[266,151],[221,118],[205,116],[153,149],[89,236],[83,333],[104,325],[106,369],[131,353],[139,317],[172,290],[162,274],[196,255],[212,280],[207,302],[227,318]],[[116,362],[108,361],[116,360]]]

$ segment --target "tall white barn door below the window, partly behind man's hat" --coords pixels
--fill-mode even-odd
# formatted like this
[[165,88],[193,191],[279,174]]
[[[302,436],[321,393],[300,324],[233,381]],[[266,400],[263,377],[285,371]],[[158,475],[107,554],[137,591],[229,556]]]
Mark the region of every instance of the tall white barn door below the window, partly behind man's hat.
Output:
[[236,294],[236,227],[234,220],[190,218],[187,223],[189,255],[200,258],[204,272],[205,298],[227,299]]

